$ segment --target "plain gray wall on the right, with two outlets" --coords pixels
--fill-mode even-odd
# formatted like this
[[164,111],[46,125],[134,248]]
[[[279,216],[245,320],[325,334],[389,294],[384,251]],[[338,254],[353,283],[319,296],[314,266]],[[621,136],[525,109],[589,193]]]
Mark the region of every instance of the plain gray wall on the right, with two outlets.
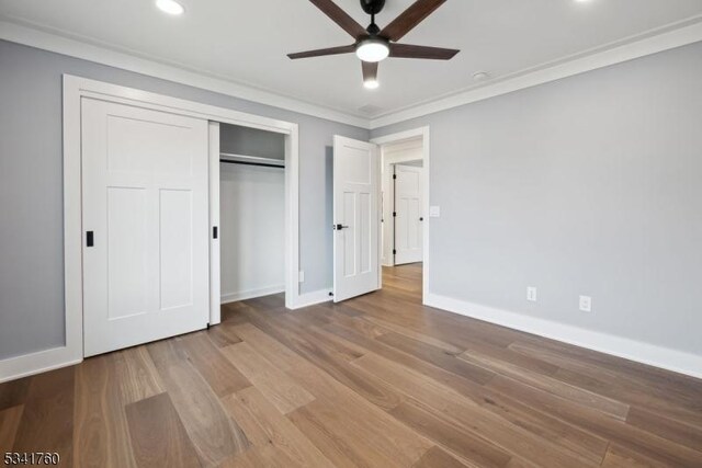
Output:
[[432,293],[702,354],[702,43],[424,125]]

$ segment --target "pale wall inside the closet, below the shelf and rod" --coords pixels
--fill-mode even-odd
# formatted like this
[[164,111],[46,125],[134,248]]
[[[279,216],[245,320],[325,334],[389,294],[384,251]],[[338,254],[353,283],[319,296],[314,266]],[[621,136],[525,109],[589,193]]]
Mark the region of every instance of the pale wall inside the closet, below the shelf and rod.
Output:
[[222,301],[285,289],[285,171],[219,164]]

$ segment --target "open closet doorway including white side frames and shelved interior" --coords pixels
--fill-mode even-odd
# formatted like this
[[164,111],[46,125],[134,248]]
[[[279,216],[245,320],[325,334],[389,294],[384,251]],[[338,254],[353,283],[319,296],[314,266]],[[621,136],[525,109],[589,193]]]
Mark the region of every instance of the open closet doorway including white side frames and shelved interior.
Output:
[[[279,123],[276,123],[279,124]],[[297,125],[210,122],[210,324],[222,305],[285,293],[298,278]]]

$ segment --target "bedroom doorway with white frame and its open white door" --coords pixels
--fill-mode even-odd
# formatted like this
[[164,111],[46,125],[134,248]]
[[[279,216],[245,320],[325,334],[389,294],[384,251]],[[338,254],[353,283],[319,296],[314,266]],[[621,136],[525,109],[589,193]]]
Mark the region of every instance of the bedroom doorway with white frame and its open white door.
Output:
[[418,266],[426,290],[429,128],[370,142],[335,136],[333,164],[335,303],[381,289],[383,270],[396,264]]

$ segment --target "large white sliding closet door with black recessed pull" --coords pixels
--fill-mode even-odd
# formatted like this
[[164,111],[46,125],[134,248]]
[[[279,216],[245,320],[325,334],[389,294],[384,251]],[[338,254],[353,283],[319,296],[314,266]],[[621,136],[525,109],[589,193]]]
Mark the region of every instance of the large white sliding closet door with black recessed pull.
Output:
[[207,122],[81,107],[84,355],[205,328]]

